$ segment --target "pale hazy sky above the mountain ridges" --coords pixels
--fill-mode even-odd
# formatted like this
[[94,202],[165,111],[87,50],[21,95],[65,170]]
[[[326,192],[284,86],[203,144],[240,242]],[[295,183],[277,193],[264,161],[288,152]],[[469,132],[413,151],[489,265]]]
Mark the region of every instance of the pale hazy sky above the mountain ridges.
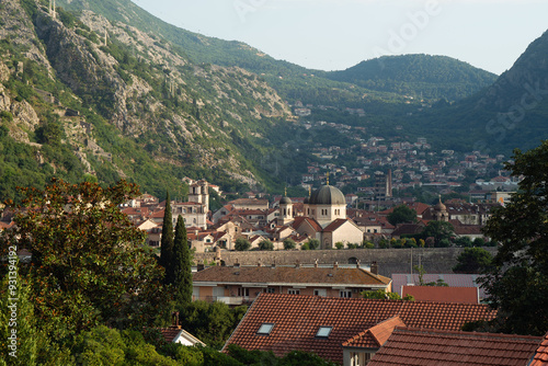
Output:
[[429,54],[502,73],[548,30],[548,0],[132,1],[179,27],[322,70]]

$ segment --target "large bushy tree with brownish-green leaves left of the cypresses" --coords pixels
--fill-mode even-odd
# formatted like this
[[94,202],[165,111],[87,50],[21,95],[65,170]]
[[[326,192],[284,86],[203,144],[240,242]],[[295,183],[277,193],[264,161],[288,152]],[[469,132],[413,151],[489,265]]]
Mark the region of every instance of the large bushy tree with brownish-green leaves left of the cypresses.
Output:
[[165,302],[162,271],[145,233],[118,208],[137,186],[54,179],[44,191],[21,191],[16,227],[1,233],[0,249],[16,244],[33,254],[28,283],[41,331],[64,342],[100,322],[151,323]]

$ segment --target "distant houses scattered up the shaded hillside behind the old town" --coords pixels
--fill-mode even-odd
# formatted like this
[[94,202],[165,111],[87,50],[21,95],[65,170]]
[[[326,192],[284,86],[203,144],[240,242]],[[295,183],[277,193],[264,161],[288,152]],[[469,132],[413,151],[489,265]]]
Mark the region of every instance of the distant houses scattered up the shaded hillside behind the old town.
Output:
[[[467,155],[447,149],[436,151],[426,138],[406,140],[400,136],[370,136],[366,127],[341,123],[319,121],[297,124],[311,136],[317,130],[330,128],[345,141],[344,146],[335,141],[330,146],[315,142],[309,147],[318,160],[310,162],[308,172],[301,175],[300,185],[306,190],[324,184],[329,173],[331,180],[336,181],[336,187],[355,187],[355,193],[377,199],[367,182],[378,174],[390,172],[395,191],[425,187],[445,194],[458,188],[472,199],[486,199],[493,191],[515,191],[520,182],[520,178],[509,176],[502,170],[502,163],[507,160],[503,155],[490,156],[479,150]],[[467,179],[469,174],[473,180]]]

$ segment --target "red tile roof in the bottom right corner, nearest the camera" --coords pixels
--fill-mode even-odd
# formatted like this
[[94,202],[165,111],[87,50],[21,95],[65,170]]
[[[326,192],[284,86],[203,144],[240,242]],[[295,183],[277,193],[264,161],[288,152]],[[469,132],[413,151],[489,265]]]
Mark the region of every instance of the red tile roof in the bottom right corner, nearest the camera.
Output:
[[396,328],[367,366],[525,366],[541,338]]

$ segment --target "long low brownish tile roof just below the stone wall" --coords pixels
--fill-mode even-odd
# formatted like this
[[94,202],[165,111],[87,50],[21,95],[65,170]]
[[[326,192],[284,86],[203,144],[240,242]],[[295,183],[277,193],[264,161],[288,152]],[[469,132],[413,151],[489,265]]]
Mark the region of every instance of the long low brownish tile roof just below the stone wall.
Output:
[[212,266],[194,273],[193,282],[216,284],[330,284],[386,287],[391,279],[364,268],[288,267],[288,266]]

